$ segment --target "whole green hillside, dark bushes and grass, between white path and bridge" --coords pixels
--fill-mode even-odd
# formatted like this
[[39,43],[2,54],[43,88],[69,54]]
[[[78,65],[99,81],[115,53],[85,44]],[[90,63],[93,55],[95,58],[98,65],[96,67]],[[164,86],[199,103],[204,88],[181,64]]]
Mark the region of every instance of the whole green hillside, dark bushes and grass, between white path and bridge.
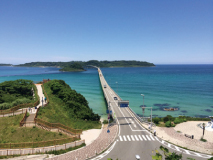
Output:
[[94,114],[87,100],[63,80],[51,80],[44,84],[44,88],[49,97],[49,104],[40,108],[38,118],[74,129],[101,127],[100,116]]

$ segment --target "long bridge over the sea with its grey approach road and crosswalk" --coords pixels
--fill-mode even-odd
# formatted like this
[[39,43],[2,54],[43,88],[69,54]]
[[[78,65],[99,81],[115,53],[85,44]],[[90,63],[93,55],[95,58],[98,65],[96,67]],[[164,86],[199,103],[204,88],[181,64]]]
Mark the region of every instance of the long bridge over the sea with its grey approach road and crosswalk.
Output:
[[129,107],[129,101],[122,100],[121,97],[108,85],[100,68],[98,69],[101,87],[104,97],[108,104],[108,110],[111,111],[112,116],[116,119],[119,126],[118,136],[112,146],[103,154],[95,157],[93,160],[99,159],[136,159],[136,155],[140,159],[151,159],[152,151],[159,149],[162,145],[170,150],[182,154],[183,159],[188,157],[194,159],[204,160],[210,158],[210,155],[196,153],[189,151],[160,139],[154,136],[142,125],[142,120],[137,114]]

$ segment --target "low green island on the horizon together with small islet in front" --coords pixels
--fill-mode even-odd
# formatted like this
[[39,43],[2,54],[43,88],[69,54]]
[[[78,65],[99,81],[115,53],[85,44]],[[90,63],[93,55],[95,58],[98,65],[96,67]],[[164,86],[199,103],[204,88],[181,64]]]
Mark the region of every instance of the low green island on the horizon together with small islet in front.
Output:
[[97,67],[153,67],[153,63],[145,61],[98,61],[90,60],[87,62],[83,61],[70,61],[70,62],[31,62],[16,65],[16,67],[58,67],[60,71],[85,71],[84,68],[89,66]]

